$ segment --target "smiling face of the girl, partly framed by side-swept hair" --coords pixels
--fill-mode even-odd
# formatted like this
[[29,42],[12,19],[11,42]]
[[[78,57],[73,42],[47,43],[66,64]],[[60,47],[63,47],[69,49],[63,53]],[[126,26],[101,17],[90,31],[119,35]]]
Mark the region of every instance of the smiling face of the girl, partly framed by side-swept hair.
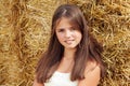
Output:
[[76,48],[82,38],[79,28],[74,28],[65,17],[62,17],[57,24],[55,32],[57,40],[65,48]]

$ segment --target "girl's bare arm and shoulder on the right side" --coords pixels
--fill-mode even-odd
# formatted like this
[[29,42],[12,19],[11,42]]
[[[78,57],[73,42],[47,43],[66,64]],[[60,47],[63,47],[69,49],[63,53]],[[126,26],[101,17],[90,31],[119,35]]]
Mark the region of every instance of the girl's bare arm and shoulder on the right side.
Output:
[[101,75],[100,73],[101,73],[100,66],[96,66],[95,63],[90,63],[86,68],[84,80],[79,81],[78,86],[98,86],[100,82],[100,75]]

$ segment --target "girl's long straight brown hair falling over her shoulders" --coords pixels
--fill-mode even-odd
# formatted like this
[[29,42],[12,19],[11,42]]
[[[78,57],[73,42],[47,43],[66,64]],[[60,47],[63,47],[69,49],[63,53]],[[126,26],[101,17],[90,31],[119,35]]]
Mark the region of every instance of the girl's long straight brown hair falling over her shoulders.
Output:
[[96,63],[101,66],[101,73],[103,74],[104,68],[101,59],[103,47],[98,43],[96,39],[90,34],[87,22],[80,9],[74,4],[63,4],[54,12],[49,47],[39,60],[36,70],[37,81],[39,83],[47,82],[56,70],[63,57],[64,47],[58,42],[55,34],[56,25],[62,17],[68,18],[75,27],[80,29],[82,34],[82,39],[77,46],[77,52],[75,54],[75,64],[73,67],[70,80],[76,81],[84,77],[83,72],[88,60],[96,61]]

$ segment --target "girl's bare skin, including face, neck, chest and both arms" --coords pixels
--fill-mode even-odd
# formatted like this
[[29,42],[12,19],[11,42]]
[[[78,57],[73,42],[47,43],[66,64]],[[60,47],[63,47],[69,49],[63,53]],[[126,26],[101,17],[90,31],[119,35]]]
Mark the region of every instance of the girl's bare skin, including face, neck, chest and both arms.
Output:
[[[73,69],[76,46],[80,43],[82,34],[78,28],[74,28],[67,18],[62,17],[56,27],[56,37],[64,46],[64,56],[56,71],[68,73]],[[78,86],[98,86],[100,81],[100,66],[90,61],[84,70],[84,78],[79,81]],[[43,86],[35,80],[34,86]]]

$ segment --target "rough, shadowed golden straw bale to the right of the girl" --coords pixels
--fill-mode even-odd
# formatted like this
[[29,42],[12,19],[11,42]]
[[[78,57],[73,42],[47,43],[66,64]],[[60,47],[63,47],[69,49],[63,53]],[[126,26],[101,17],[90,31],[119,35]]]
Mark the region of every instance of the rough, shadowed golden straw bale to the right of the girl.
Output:
[[130,84],[130,1],[69,0],[79,5],[91,32],[103,42],[107,74],[100,86]]

